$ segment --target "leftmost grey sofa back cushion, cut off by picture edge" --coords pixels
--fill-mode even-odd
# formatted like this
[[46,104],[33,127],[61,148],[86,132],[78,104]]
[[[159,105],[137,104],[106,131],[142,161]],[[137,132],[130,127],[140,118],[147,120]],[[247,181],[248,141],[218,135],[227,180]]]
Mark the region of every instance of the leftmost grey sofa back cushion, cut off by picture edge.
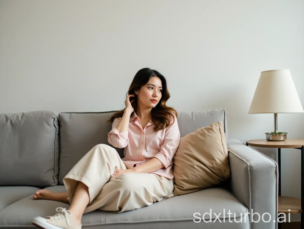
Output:
[[59,126],[50,111],[0,114],[0,186],[55,186]]

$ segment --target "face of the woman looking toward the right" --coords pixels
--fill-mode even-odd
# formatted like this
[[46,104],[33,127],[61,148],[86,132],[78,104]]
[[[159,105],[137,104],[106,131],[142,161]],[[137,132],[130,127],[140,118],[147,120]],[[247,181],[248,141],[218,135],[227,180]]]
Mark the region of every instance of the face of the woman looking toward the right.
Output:
[[149,82],[143,85],[137,93],[138,105],[154,108],[161,100],[161,79],[153,76]]

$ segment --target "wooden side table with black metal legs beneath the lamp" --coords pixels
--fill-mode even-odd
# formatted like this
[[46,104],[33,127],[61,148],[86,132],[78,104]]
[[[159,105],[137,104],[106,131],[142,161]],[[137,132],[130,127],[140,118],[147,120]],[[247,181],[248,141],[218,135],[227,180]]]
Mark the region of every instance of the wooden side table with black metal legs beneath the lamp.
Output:
[[[279,192],[278,192],[278,213],[298,214],[301,213],[301,228],[304,229],[304,139],[286,139],[285,141],[267,141],[266,139],[256,139],[246,141],[247,146],[277,148],[278,149],[278,170],[279,170]],[[281,149],[294,148],[301,150],[301,199],[291,196],[281,196]],[[290,211],[288,211],[290,209]],[[279,228],[281,224],[278,224]]]

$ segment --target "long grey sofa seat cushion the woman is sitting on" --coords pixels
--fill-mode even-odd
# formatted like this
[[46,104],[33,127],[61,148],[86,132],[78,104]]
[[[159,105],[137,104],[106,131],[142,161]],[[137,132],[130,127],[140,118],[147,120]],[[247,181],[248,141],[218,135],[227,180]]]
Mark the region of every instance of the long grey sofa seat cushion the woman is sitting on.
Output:
[[[64,187],[49,187],[52,191],[62,192]],[[26,197],[0,211],[0,227],[2,225],[21,228],[30,226],[33,217],[54,215],[56,207],[68,208],[69,204],[48,200],[33,200]],[[193,216],[194,213],[203,213],[212,210],[212,223],[198,220]],[[242,205],[229,191],[222,188],[209,188],[183,196],[174,196],[161,202],[156,202],[150,206],[123,213],[112,213],[95,210],[87,213],[82,218],[83,228],[132,228],[132,229],[152,229],[152,228],[220,228],[223,227],[223,209],[236,213],[236,220],[242,219],[240,223],[230,223],[228,215],[225,218],[226,229],[249,229],[248,216],[244,214],[248,209]],[[18,217],[16,217],[18,212]],[[215,220],[215,215],[221,213],[219,220]],[[198,216],[198,215],[197,215]],[[233,220],[233,215],[230,219]],[[246,218],[246,222],[244,222]],[[204,218],[209,220],[209,216]]]

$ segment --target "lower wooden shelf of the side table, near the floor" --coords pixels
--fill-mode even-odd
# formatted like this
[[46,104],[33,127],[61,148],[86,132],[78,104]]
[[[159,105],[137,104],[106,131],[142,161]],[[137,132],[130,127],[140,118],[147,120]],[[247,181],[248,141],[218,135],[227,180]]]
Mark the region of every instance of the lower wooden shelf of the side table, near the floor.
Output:
[[[288,211],[290,209],[290,211]],[[291,196],[278,196],[278,213],[302,213],[301,199]]]

